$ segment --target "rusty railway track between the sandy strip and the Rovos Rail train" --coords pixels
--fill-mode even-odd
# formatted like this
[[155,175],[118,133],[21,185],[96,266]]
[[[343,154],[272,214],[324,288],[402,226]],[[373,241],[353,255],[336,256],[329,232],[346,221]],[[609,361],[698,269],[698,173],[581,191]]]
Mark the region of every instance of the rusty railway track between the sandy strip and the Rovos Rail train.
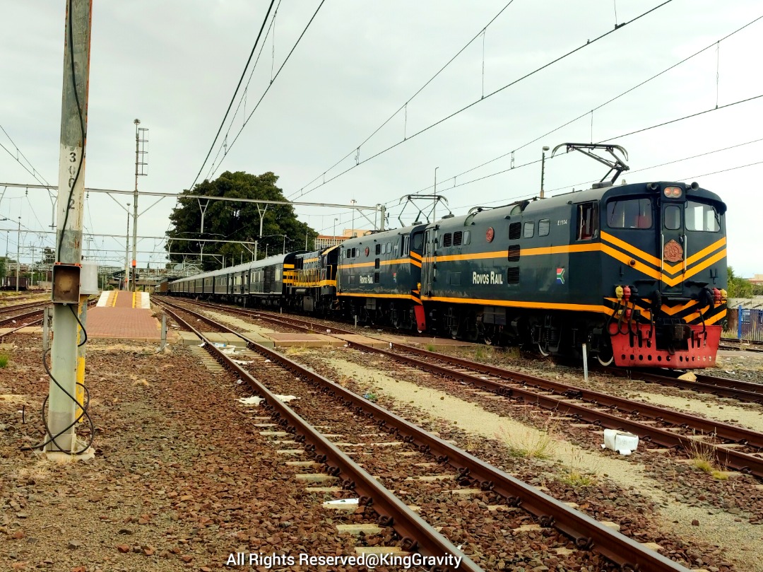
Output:
[[[214,305],[211,307],[220,309]],[[301,331],[326,330],[324,325],[292,316],[269,315],[266,312],[240,309],[234,309],[234,313],[256,316]],[[356,333],[342,328],[330,329],[336,334]],[[630,431],[639,435],[642,440],[663,447],[691,451],[697,447],[696,441],[701,439],[702,446],[713,451],[716,461],[721,466],[763,478],[763,434],[757,431],[405,344],[390,343],[388,350],[357,342],[351,342],[349,345],[362,351],[383,354],[391,360],[436,373],[457,383],[496,393],[513,401],[550,409],[559,415],[569,415],[580,422]],[[646,376],[649,374],[645,374]],[[654,379],[662,379],[662,376],[654,376]],[[663,381],[667,383],[667,380],[669,378]],[[685,383],[687,387],[694,385],[682,380],[670,381]],[[712,393],[724,393],[723,387],[713,386],[712,389]],[[710,391],[710,388],[708,390]],[[739,389],[728,389],[728,393],[729,396],[742,395]],[[750,393],[749,399],[759,401],[761,394]]]

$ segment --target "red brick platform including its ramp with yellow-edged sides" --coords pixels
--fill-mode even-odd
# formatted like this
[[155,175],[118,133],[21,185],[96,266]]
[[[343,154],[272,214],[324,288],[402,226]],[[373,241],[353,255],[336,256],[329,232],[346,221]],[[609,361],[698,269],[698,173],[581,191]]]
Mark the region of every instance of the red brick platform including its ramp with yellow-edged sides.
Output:
[[162,325],[154,318],[148,292],[101,292],[95,308],[88,310],[85,328],[89,338],[159,341]]

